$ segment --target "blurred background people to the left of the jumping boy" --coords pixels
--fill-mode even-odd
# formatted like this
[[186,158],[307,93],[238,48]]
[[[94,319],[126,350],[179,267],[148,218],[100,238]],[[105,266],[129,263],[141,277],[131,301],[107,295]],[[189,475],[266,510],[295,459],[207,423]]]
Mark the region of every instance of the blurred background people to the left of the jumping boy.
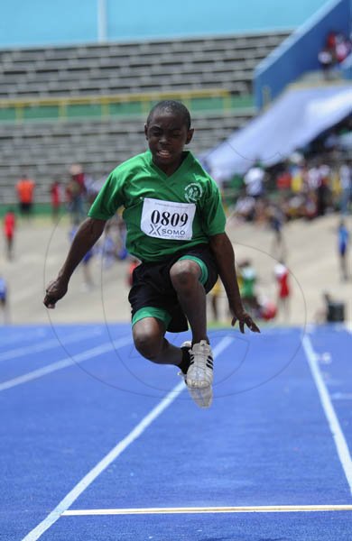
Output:
[[[49,185],[51,202],[51,218],[56,225],[61,217],[69,217],[67,241],[71,243],[77,232],[79,224],[87,216],[88,207],[97,196],[103,180],[94,181],[79,164],[73,164],[69,171],[63,171],[62,176],[55,177]],[[21,234],[22,227],[29,227],[36,214],[35,206],[35,180],[23,173],[14,187],[14,198],[17,204],[7,206],[2,216],[3,245],[5,260],[11,262],[18,259],[16,252],[16,237]],[[67,221],[64,222],[65,225]],[[22,227],[18,227],[22,224]],[[3,246],[2,246],[3,247]],[[92,261],[99,261],[105,268],[116,261],[130,261],[126,271],[126,286],[130,280],[130,272],[135,264],[125,248],[125,222],[121,213],[110,219],[105,232],[97,245],[90,250],[81,262],[82,289],[88,291],[97,286],[94,272],[91,269]],[[7,273],[8,274],[8,273]],[[9,276],[5,276],[0,268],[0,324],[11,323],[9,311]]]

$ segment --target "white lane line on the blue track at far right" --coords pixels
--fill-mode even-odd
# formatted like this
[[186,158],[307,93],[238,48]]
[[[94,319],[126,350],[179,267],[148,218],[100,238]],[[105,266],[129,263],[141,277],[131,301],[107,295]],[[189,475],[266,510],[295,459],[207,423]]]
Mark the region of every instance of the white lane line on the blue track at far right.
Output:
[[349,485],[349,491],[352,494],[352,459],[349,453],[347,441],[338,422],[338,416],[335,413],[335,409],[329,397],[329,392],[321,376],[318,355],[313,350],[313,346],[310,342],[309,336],[303,336],[302,344],[304,352],[306,353],[308,363],[310,365],[311,374],[320,395],[321,405],[324,409],[325,416],[328,419],[331,434],[334,437],[335,445],[338,450],[338,458],[345,472],[346,479]]

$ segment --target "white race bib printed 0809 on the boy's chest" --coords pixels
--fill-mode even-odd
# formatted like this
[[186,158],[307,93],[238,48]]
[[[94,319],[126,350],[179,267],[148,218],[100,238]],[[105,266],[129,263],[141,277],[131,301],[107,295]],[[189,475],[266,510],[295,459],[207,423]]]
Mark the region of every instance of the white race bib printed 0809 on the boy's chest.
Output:
[[195,212],[194,203],[174,203],[145,197],[141,229],[148,236],[156,238],[190,241]]

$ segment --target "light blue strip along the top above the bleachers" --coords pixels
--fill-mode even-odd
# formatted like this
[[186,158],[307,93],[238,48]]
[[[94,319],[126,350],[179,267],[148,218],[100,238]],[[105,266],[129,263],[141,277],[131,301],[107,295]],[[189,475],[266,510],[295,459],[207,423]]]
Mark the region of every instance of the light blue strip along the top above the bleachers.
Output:
[[0,48],[291,30],[326,0],[3,0]]

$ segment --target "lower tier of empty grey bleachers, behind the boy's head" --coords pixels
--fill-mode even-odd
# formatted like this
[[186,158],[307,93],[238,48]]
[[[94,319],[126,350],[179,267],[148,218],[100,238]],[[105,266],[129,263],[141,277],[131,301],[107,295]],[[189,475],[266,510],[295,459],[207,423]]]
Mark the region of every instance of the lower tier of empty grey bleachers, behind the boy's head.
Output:
[[[244,125],[248,113],[195,115],[190,150],[199,155]],[[49,200],[54,177],[66,179],[69,166],[81,163],[93,179],[146,149],[144,118],[0,124],[0,203],[15,200],[14,185],[23,173],[37,182],[36,200]]]

